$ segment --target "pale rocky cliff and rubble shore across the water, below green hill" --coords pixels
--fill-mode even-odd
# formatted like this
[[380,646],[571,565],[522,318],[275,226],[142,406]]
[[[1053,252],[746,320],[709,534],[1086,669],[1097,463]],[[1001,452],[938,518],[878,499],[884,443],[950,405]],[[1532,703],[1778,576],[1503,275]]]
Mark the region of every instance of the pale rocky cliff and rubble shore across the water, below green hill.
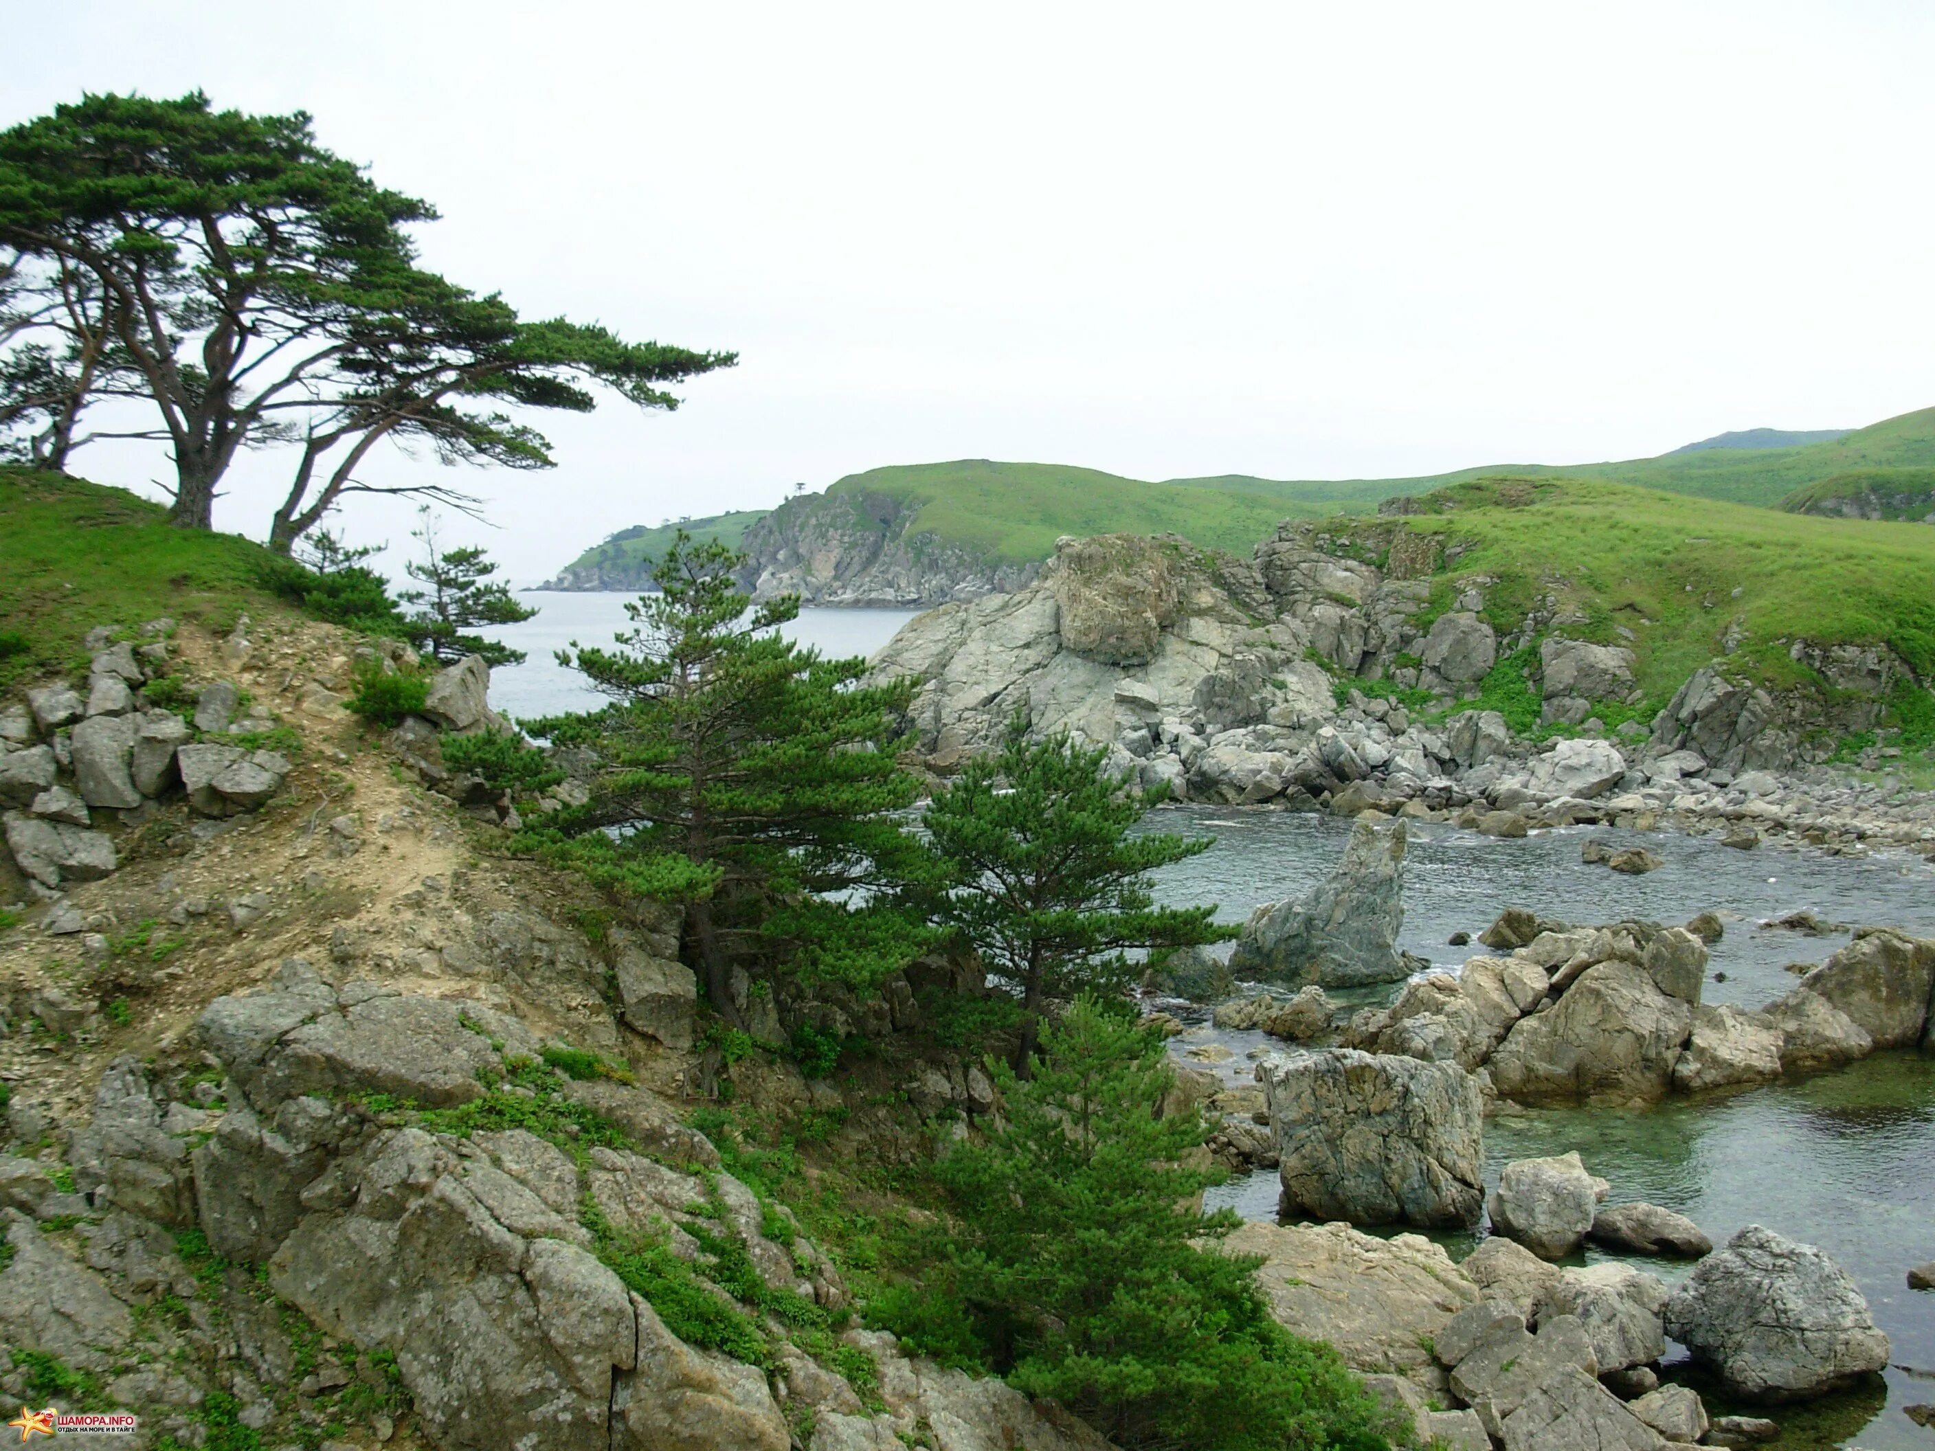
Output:
[[[1385,549],[1382,569],[1366,561],[1370,546]],[[1861,838],[1935,849],[1927,801],[1890,801],[1807,766],[1809,743],[1877,724],[1902,677],[1887,650],[1796,642],[1832,685],[1831,710],[1742,683],[1722,658],[1651,726],[1608,731],[1593,702],[1637,698],[1631,648],[1569,638],[1563,619],[1536,611],[1500,640],[1482,613],[1484,580],[1422,627],[1428,580],[1414,571],[1434,567],[1432,548],[1405,532],[1366,542],[1312,524],[1287,524],[1254,561],[1180,540],[1064,540],[1039,580],[921,615],[875,667],[919,683],[913,726],[942,770],[1026,710],[1037,729],[1068,729],[1107,747],[1118,772],[1198,801],[1405,813],[1505,836],[1674,818],[1740,845],[1790,832],[1836,849]],[[1389,681],[1432,691],[1434,716],[1457,710],[1534,638],[1542,724],[1581,739],[1538,747],[1478,710],[1426,726],[1366,693]],[[1803,768],[1805,782],[1794,778]]]

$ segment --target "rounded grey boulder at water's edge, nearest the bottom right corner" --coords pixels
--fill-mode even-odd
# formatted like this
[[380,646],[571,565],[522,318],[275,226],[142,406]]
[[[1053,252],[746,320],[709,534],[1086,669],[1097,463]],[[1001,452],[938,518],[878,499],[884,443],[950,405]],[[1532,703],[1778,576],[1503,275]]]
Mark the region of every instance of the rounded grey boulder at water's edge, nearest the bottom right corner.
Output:
[[1666,1333],[1749,1401],[1825,1395],[1889,1364],[1854,1279],[1759,1225],[1693,1267],[1666,1302]]

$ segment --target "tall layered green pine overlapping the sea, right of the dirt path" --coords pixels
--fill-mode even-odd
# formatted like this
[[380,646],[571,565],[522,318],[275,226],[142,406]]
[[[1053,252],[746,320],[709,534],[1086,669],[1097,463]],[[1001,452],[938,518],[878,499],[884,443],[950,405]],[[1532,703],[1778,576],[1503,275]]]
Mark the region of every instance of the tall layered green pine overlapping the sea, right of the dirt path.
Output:
[[600,758],[584,807],[548,822],[553,855],[629,896],[685,907],[712,1008],[733,1025],[731,971],[869,987],[933,933],[898,905],[919,845],[894,758],[906,685],[861,685],[778,635],[784,596],[751,607],[745,555],[679,530],[656,594],[617,648],[559,652],[611,704],[526,722]]

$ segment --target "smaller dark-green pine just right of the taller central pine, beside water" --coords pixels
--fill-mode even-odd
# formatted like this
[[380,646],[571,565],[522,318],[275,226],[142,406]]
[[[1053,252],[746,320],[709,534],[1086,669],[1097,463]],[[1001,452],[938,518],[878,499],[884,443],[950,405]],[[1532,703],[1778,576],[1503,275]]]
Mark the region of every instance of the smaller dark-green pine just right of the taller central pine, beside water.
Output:
[[1118,991],[1134,948],[1235,936],[1211,921],[1215,907],[1153,905],[1149,873],[1211,842],[1132,836],[1163,791],[1122,784],[1105,760],[1066,735],[1029,741],[1016,716],[1000,753],[969,760],[927,809],[940,886],[933,911],[1022,998],[1014,1066],[1024,1074],[1047,1002]]

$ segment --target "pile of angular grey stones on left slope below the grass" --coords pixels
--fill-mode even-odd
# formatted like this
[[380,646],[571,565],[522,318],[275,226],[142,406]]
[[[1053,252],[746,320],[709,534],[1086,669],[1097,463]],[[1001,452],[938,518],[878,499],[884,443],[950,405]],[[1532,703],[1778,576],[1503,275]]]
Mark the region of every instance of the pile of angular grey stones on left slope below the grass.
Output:
[[234,685],[207,685],[194,724],[145,698],[147,683],[168,673],[170,631],[172,621],[149,621],[135,646],[114,642],[108,627],[95,629],[85,693],[43,685],[27,691],[25,706],[0,710],[6,844],[37,892],[112,873],[114,838],[101,828],[135,824],[157,801],[180,793],[203,816],[230,816],[281,789],[290,770],[284,756],[221,739],[273,727],[263,718],[234,720]]

